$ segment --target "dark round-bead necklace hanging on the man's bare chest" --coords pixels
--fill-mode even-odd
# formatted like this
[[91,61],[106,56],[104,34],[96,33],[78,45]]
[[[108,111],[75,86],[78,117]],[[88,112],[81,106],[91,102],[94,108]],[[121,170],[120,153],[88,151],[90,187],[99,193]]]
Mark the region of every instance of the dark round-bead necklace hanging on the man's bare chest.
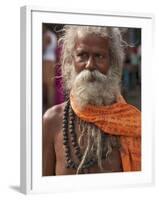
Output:
[[[69,119],[69,122],[68,122],[68,119]],[[73,152],[75,152],[78,163],[75,163],[71,157],[71,148],[69,145],[69,136],[68,136],[69,133],[70,133],[72,149],[74,149]],[[77,136],[75,132],[75,113],[72,110],[69,100],[66,102],[66,105],[64,108],[63,145],[64,145],[64,151],[65,151],[66,168],[77,169],[82,159],[82,153],[81,153],[79,144],[77,142]],[[90,160],[87,160],[84,162],[82,169],[88,169],[96,163],[97,161],[93,158]]]

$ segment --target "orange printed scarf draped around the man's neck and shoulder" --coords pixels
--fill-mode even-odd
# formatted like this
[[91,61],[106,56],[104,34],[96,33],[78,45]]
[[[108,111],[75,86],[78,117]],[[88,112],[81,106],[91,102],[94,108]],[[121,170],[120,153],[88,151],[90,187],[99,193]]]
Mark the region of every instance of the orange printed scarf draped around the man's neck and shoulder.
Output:
[[137,108],[127,104],[122,96],[112,105],[87,105],[83,109],[72,94],[70,101],[79,118],[95,124],[107,134],[120,137],[123,171],[141,170],[141,112]]

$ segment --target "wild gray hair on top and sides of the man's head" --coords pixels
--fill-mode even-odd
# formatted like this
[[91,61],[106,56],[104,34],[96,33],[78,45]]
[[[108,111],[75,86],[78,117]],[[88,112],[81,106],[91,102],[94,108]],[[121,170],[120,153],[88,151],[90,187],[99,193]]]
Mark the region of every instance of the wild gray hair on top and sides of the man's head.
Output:
[[75,73],[72,55],[79,32],[84,35],[93,34],[102,38],[109,39],[110,66],[113,68],[113,74],[118,80],[120,80],[124,59],[123,47],[125,43],[122,40],[119,28],[104,26],[66,25],[64,27],[64,35],[60,39],[60,42],[63,46],[61,55],[62,76],[66,91],[69,92],[72,88],[72,74]]

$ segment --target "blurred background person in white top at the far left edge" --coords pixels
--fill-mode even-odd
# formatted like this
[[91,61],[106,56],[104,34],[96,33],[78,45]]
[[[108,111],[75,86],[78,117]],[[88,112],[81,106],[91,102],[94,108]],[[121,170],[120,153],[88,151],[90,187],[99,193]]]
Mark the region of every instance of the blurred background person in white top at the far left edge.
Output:
[[54,75],[56,64],[56,34],[46,27],[43,31],[43,112],[54,105]]

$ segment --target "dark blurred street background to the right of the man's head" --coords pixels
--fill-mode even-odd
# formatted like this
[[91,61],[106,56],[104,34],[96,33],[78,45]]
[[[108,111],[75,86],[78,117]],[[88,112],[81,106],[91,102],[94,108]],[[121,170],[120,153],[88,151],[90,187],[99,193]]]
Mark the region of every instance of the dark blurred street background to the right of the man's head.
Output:
[[129,28],[125,41],[122,94],[128,103],[141,110],[141,29]]

